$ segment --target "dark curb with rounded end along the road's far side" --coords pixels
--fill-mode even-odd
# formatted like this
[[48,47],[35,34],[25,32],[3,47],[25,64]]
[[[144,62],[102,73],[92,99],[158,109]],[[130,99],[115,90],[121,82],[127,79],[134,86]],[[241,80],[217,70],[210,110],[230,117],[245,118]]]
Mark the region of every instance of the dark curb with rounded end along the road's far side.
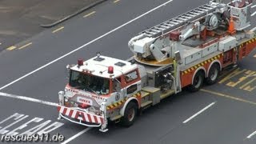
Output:
[[65,18],[62,18],[62,19],[60,19],[60,20],[58,20],[58,21],[56,21],[56,22],[53,22],[53,23],[50,23],[50,24],[41,24],[40,26],[42,26],[42,27],[44,27],[44,28],[50,28],[50,27],[52,27],[52,26],[56,26],[56,25],[58,25],[59,23],[64,22],[64,21],[66,21],[67,19],[73,18],[74,16],[76,16],[76,15],[82,13],[83,11],[89,10],[90,8],[92,8],[92,7],[94,7],[94,6],[97,6],[97,5],[99,5],[99,4],[101,4],[102,2],[105,2],[105,1],[107,1],[107,0],[98,0],[97,2],[91,3],[89,6],[85,6],[85,7],[83,7],[82,9],[80,9],[80,10],[74,12],[74,14],[70,14],[70,15],[66,16]]

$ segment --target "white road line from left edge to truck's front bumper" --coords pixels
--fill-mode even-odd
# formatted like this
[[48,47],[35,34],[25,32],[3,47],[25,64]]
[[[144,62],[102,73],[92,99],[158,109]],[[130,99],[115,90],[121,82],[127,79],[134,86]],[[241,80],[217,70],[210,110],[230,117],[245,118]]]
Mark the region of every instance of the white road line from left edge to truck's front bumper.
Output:
[[48,106],[58,106],[58,103],[47,102],[47,101],[43,101],[43,100],[40,100],[40,99],[25,97],[25,96],[21,96],[21,95],[6,94],[6,93],[2,93],[2,92],[0,92],[0,97],[22,99],[22,100],[25,100],[25,101],[37,102],[37,103],[41,103],[41,104],[48,105]]

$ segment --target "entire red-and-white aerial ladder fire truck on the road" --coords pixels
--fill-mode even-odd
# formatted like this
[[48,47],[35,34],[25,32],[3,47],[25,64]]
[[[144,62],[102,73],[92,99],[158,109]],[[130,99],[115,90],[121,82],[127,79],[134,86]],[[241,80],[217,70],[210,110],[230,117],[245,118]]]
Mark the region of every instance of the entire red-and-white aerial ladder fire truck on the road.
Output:
[[124,61],[97,54],[68,65],[69,82],[58,93],[58,118],[107,131],[108,122],[131,126],[138,111],[183,88],[211,85],[256,47],[251,1],[210,1],[153,26],[128,42]]

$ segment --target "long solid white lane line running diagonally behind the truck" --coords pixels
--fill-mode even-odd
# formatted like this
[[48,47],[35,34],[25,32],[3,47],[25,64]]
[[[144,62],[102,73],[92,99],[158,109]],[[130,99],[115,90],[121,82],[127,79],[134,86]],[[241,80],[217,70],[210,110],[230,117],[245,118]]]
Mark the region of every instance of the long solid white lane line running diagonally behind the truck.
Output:
[[70,55],[70,54],[73,54],[74,52],[76,52],[76,51],[78,51],[78,50],[84,48],[85,46],[88,46],[88,45],[90,45],[91,43],[96,42],[96,41],[98,41],[99,39],[104,38],[104,37],[106,37],[107,35],[114,33],[114,31],[117,31],[117,30],[121,29],[122,27],[124,27],[124,26],[130,24],[131,22],[134,22],[134,21],[138,20],[139,18],[144,17],[146,14],[150,14],[150,13],[153,12],[154,10],[158,10],[158,9],[161,8],[162,6],[166,6],[166,4],[168,4],[168,3],[172,2],[172,1],[173,1],[173,0],[170,0],[170,1],[167,1],[167,2],[165,2],[165,3],[162,3],[162,5],[159,5],[159,6],[155,7],[154,9],[149,10],[149,11],[147,11],[146,13],[139,15],[137,18],[134,18],[134,19],[130,20],[129,22],[126,22],[126,23],[122,24],[121,26],[118,26],[118,27],[114,28],[113,30],[110,30],[110,31],[107,32],[106,34],[103,34],[103,35],[99,36],[98,38],[95,38],[94,40],[92,40],[92,41],[90,41],[90,42],[87,42],[86,44],[84,44],[84,45],[82,45],[82,46],[79,46],[78,48],[76,48],[76,49],[70,51],[69,53],[62,55],[61,57],[56,58],[56,59],[54,59],[53,61],[48,62],[48,63],[46,63],[45,65],[43,65],[43,66],[41,66],[41,67],[38,67],[38,69],[33,70],[33,71],[31,71],[30,73],[25,74],[25,75],[23,75],[23,76],[20,77],[20,78],[15,79],[13,82],[10,82],[10,83],[6,84],[5,86],[2,86],[2,87],[0,88],[0,90],[3,90],[3,89],[6,88],[7,86],[10,86],[10,85],[14,84],[15,82],[18,82],[18,81],[22,80],[23,78],[26,78],[26,77],[30,76],[31,74],[34,74],[34,73],[37,72],[38,70],[42,70],[43,68],[45,68],[46,66],[49,66],[49,65],[53,64],[54,62],[58,62],[60,59],[65,58],[66,56],[68,56],[68,55]]

